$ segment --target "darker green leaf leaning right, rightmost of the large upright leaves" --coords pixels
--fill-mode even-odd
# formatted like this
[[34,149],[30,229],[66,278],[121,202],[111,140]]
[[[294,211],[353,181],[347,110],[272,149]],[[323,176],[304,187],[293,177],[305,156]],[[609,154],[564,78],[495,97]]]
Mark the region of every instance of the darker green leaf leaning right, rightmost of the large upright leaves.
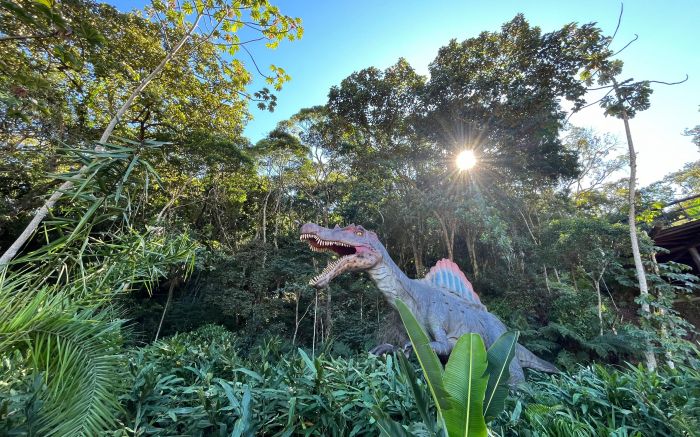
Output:
[[517,331],[506,332],[491,345],[487,352],[486,372],[489,375],[489,382],[484,398],[484,417],[487,422],[495,419],[505,408],[510,378],[508,368],[515,356],[519,335]]

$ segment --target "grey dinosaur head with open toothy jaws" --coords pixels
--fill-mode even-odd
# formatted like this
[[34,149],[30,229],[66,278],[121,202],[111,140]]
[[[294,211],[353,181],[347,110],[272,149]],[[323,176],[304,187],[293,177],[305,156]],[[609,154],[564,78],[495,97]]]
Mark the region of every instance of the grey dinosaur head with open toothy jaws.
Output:
[[301,227],[300,239],[308,242],[315,252],[331,252],[338,256],[338,259],[328,264],[323,272],[309,282],[312,287],[325,287],[341,273],[367,270],[382,260],[383,246],[377,234],[362,226],[336,226],[328,229],[307,223]]

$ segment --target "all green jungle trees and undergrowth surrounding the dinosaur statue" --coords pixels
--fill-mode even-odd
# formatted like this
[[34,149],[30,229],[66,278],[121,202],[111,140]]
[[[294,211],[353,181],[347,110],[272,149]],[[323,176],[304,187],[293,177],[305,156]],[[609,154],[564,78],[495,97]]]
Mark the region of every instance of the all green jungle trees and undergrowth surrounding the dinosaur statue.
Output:
[[[411,277],[454,260],[564,370],[531,373],[491,435],[698,435],[698,278],[649,234],[697,214],[662,206],[700,162],[635,189],[626,142],[567,124],[564,100],[621,123],[653,104],[594,24],[518,15],[429,77],[367,66],[253,143],[290,79],[255,53],[303,34],[267,0],[0,14],[0,434],[439,435],[417,362],[366,352],[403,329],[368,278],[307,285],[316,222],[375,230]],[[480,164],[458,172],[464,144]]]

